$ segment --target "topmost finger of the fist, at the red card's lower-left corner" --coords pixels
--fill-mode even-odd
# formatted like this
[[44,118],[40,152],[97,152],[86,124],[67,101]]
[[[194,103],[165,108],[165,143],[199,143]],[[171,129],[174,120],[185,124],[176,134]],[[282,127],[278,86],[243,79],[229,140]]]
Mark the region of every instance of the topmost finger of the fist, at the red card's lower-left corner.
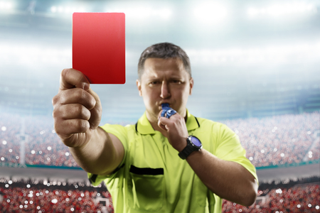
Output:
[[74,69],[64,69],[60,75],[60,89],[70,89],[78,87],[81,89],[89,89],[90,82],[82,72]]

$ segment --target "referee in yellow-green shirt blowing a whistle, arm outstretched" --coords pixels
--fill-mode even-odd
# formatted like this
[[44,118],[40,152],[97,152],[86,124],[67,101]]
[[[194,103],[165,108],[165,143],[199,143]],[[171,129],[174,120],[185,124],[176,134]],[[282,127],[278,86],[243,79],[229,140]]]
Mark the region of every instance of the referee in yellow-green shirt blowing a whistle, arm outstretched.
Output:
[[222,199],[255,202],[255,167],[238,136],[186,109],[193,78],[185,51],[146,48],[137,89],[146,111],[127,126],[98,126],[100,99],[78,70],[61,72],[53,97],[55,132],[92,185],[105,181],[114,212],[221,212]]

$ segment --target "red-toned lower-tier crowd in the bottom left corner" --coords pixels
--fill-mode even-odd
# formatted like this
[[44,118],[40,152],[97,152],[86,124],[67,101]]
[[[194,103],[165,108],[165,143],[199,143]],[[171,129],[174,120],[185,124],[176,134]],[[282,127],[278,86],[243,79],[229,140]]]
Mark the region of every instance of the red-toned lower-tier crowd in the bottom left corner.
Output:
[[0,212],[105,212],[99,198],[112,198],[106,188],[77,184],[45,185],[46,182],[0,180]]

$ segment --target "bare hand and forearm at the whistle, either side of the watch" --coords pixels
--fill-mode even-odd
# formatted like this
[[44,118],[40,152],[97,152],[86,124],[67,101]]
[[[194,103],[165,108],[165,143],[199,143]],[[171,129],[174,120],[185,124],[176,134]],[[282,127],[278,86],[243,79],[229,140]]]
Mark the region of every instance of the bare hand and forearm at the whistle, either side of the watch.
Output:
[[[171,146],[181,152],[186,147],[188,131],[184,118],[174,114],[167,119],[159,117],[161,131]],[[186,158],[188,164],[208,189],[226,200],[250,206],[257,197],[257,180],[239,163],[222,160],[201,149]]]

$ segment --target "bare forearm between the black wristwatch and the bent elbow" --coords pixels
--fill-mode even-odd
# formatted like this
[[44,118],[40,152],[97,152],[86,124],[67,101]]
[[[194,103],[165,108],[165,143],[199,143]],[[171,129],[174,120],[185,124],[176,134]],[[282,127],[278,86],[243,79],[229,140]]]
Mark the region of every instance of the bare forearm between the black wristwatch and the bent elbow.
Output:
[[257,182],[242,165],[221,160],[202,149],[186,158],[208,189],[226,200],[250,206],[257,197]]

